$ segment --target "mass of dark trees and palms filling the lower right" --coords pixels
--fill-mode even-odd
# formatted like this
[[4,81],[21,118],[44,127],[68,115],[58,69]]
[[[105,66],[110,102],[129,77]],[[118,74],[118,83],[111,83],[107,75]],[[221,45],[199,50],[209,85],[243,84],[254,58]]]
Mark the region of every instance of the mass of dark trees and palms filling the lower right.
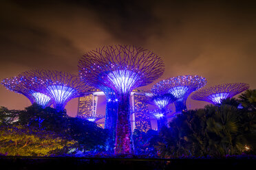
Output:
[[163,141],[156,145],[160,156],[255,154],[256,114],[252,111],[255,104],[250,102],[243,109],[237,106],[237,99],[226,99],[217,106],[208,105],[177,115],[169,128],[160,131]]

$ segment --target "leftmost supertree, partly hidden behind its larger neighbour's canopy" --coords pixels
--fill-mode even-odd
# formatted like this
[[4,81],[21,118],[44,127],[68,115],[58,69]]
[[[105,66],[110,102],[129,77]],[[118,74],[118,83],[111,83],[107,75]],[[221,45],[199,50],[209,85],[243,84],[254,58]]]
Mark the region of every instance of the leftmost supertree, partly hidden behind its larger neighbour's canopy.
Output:
[[6,78],[1,82],[1,84],[3,84],[3,86],[8,90],[24,95],[30,100],[31,104],[36,103],[45,108],[46,106],[50,106],[52,103],[49,96],[41,93],[40,89],[33,86],[33,84],[29,84],[28,80],[21,75]]

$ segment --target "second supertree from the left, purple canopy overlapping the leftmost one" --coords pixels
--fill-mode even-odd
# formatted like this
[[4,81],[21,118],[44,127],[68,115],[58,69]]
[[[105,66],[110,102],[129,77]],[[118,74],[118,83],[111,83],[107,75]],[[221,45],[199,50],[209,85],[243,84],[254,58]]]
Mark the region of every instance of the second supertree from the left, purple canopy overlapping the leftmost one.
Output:
[[71,99],[81,97],[94,89],[92,86],[85,85],[78,75],[61,71],[32,70],[23,72],[21,75],[33,84],[32,88],[51,97],[57,112],[64,110]]

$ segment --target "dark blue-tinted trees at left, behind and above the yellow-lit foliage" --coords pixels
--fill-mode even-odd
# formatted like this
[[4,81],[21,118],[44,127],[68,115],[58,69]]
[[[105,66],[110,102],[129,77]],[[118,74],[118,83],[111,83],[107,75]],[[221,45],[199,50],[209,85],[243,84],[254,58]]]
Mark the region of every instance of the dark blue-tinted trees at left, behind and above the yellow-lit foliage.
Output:
[[[107,138],[106,130],[98,127],[96,123],[80,118],[68,117],[65,112],[56,112],[54,108],[42,108],[37,104],[33,104],[32,106],[25,108],[25,110],[8,110],[7,108],[2,107],[0,111],[1,128],[9,128],[10,125],[14,125],[14,127],[17,126],[21,130],[27,130],[26,132],[28,133],[34,133],[36,131],[44,133],[39,134],[37,137],[38,139],[40,139],[40,135],[43,136],[49,133],[48,136],[58,134],[59,136],[62,136],[61,138],[65,136],[65,138],[71,138],[72,141],[76,141],[76,145],[67,145],[65,149],[61,149],[59,152],[54,151],[54,154],[67,154],[70,153],[70,150],[88,151],[105,145],[105,140]],[[14,119],[16,121],[13,121]],[[29,132],[29,130],[31,130],[31,132]],[[23,131],[19,133],[17,132],[17,134],[20,134],[20,138],[24,135],[24,138],[28,138],[28,140],[30,140],[30,136],[25,135],[25,132]],[[14,135],[9,135],[9,139],[12,139],[12,141],[15,140],[14,137]],[[31,145],[31,148],[32,146],[36,145]],[[72,146],[72,148],[68,148],[69,146]],[[58,146],[58,148],[60,148],[60,146]],[[24,154],[23,150],[14,149],[8,149],[8,153],[13,155]],[[46,152],[44,152],[44,154],[45,153]],[[31,153],[25,155],[32,156]]]

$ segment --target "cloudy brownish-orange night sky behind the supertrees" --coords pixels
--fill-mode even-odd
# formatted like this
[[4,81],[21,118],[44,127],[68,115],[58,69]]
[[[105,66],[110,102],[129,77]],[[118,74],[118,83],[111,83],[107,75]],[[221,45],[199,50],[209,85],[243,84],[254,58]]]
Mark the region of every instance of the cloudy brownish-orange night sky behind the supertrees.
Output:
[[[253,89],[255,7],[253,1],[1,1],[0,80],[30,69],[77,73],[86,51],[127,44],[162,57],[166,70],[156,82],[196,74],[206,77],[206,87],[244,82]],[[76,115],[77,100],[67,114]],[[0,106],[23,109],[30,101],[1,85]]]

